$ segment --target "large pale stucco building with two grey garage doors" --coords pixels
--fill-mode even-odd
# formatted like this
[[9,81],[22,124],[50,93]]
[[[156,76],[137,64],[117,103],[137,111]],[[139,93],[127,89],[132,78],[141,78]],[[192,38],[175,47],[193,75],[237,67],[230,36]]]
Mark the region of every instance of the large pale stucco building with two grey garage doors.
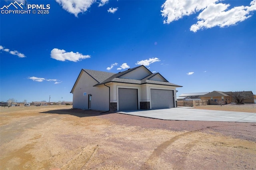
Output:
[[144,65],[119,73],[82,69],[70,93],[74,109],[127,111],[176,107],[176,88]]

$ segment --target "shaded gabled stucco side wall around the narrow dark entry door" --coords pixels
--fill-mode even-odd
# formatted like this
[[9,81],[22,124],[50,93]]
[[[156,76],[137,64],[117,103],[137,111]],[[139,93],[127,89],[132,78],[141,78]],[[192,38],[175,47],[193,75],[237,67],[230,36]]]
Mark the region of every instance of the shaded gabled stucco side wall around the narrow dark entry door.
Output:
[[[101,85],[93,87],[97,84],[90,75],[82,72],[79,81],[73,91],[73,108],[74,109],[88,109],[88,95],[92,95],[91,109],[108,111],[109,97],[108,87]],[[86,95],[84,95],[86,93]]]

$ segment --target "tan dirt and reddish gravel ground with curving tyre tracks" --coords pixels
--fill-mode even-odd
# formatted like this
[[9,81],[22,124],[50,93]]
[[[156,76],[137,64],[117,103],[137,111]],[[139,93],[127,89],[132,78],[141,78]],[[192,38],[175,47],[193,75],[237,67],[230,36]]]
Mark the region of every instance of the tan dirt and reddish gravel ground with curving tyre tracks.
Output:
[[0,169],[256,169],[256,123],[165,121],[71,107],[0,108]]

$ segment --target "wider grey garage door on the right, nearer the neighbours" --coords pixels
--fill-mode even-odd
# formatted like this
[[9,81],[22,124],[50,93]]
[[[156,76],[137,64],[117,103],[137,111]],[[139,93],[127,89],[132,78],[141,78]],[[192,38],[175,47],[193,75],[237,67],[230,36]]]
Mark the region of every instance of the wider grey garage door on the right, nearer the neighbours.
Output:
[[166,109],[174,107],[173,90],[150,89],[151,109]]

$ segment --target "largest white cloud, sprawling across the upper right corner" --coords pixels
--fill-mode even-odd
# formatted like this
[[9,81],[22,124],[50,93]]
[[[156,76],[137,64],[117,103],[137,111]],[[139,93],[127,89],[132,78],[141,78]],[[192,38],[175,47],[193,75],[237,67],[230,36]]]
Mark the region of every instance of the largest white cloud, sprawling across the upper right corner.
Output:
[[250,18],[250,12],[256,10],[256,0],[250,6],[237,6],[227,10],[230,4],[217,3],[219,0],[166,0],[162,5],[162,16],[167,18],[164,24],[170,24],[184,16],[200,12],[197,23],[190,31],[197,32],[205,28],[232,26]]

